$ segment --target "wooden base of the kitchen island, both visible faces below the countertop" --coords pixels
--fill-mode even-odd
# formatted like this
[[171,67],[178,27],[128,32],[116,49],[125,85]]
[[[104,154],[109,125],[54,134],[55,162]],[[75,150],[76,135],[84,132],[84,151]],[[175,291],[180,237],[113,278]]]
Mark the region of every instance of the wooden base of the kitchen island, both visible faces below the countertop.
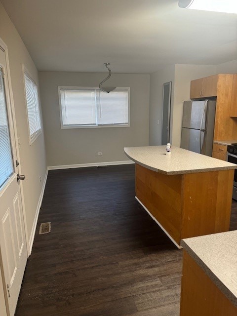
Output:
[[178,248],[229,231],[234,170],[165,175],[136,163],[136,198]]

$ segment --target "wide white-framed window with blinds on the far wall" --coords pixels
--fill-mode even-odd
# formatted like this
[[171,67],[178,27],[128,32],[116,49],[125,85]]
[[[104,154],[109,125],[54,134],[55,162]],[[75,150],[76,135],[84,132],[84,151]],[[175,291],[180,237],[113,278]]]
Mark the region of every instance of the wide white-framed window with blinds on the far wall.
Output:
[[59,87],[62,128],[130,126],[130,88]]

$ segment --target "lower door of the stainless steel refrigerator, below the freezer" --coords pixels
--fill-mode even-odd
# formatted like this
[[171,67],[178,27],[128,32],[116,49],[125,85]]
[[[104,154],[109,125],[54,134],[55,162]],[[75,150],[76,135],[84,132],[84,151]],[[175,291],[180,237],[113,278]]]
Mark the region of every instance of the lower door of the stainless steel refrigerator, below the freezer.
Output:
[[181,148],[198,154],[203,153],[203,140],[205,132],[198,129],[182,128]]

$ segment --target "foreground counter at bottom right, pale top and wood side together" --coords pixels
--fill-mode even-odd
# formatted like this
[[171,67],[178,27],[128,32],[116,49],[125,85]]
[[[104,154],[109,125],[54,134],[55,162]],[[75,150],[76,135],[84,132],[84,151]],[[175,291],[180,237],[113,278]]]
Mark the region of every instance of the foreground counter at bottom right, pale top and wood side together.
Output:
[[180,315],[236,316],[237,231],[188,238],[181,245]]

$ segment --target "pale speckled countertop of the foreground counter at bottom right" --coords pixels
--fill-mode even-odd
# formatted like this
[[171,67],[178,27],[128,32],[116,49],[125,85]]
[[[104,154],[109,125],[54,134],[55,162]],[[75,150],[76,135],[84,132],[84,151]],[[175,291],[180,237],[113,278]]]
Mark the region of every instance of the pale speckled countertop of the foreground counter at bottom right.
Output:
[[187,238],[181,245],[237,307],[237,231]]

